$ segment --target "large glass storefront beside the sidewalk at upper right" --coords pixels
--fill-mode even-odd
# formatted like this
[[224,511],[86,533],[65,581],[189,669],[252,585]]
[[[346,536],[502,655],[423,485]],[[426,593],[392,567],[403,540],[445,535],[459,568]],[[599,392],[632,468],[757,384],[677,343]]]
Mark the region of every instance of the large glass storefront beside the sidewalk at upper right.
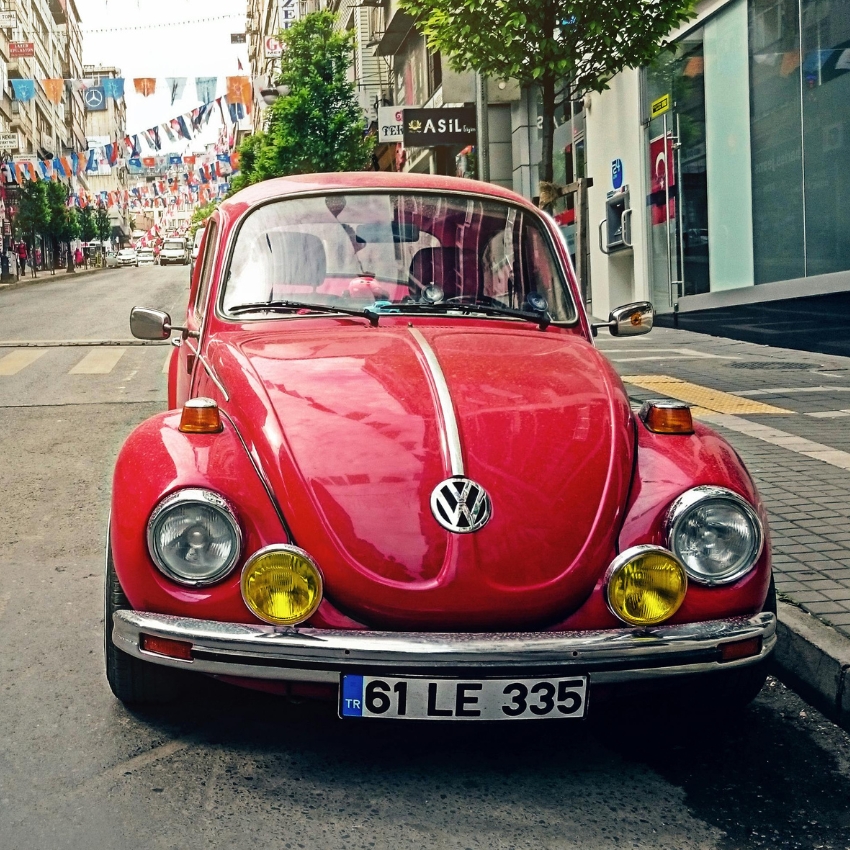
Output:
[[660,309],[850,270],[848,0],[735,0],[647,69],[644,99]]

